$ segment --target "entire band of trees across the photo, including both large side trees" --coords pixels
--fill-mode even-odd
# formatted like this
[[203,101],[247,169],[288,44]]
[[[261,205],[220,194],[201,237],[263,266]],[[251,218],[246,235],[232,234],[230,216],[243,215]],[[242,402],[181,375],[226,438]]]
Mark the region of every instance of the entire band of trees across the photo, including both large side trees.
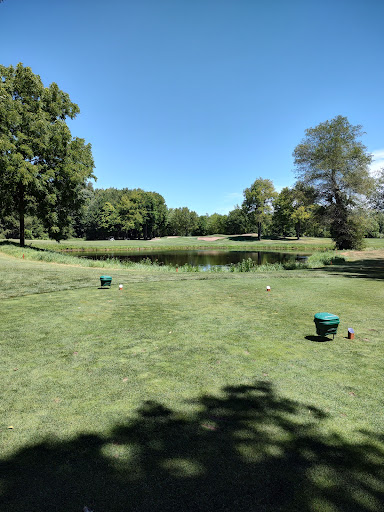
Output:
[[372,177],[361,126],[337,116],[305,131],[293,152],[298,181],[279,193],[256,179],[228,215],[168,209],[156,192],[93,189],[90,144],[66,119],[69,95],[19,63],[0,66],[0,236],[150,239],[257,233],[258,238],[331,236],[339,249],[384,235],[384,170]]

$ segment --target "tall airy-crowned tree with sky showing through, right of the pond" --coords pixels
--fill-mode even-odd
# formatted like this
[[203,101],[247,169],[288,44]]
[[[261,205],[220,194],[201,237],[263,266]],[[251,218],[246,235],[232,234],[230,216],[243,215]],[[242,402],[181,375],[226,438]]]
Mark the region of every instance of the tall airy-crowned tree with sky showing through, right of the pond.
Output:
[[327,206],[331,219],[331,236],[338,249],[361,247],[353,209],[361,195],[368,195],[374,180],[369,175],[372,155],[358,139],[360,125],[337,116],[306,130],[293,156],[297,177],[313,185]]

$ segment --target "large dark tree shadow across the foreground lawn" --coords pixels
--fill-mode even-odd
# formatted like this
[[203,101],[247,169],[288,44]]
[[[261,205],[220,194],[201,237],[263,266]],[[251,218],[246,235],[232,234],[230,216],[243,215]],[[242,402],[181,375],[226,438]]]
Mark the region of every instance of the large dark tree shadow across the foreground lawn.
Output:
[[[266,382],[227,387],[180,417],[147,402],[106,436],[46,441],[1,462],[7,512],[382,510],[384,454]],[[129,455],[129,456],[128,456]]]

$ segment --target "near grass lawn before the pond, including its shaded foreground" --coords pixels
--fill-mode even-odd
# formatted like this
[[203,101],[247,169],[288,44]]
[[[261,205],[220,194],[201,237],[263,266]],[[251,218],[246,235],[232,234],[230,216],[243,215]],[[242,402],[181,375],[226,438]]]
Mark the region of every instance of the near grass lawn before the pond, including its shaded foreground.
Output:
[[99,289],[104,269],[0,253],[0,509],[383,510],[372,265],[117,268]]

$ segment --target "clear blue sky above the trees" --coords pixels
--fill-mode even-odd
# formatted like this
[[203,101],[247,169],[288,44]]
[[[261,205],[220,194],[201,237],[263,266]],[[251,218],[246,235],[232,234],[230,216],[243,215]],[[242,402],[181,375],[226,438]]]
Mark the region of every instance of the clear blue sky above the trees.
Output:
[[98,188],[228,213],[295,181],[305,129],[363,125],[384,166],[383,0],[4,0],[0,63],[79,104]]

